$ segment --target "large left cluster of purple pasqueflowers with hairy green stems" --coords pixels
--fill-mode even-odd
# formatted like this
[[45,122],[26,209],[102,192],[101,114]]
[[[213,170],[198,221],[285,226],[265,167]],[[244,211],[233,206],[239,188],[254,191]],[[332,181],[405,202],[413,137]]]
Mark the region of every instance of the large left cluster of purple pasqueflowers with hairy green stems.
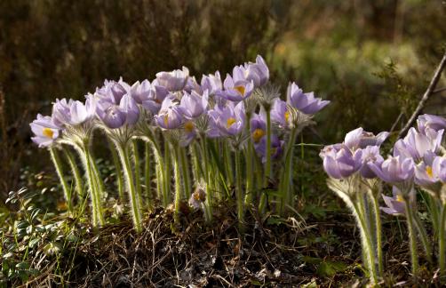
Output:
[[[270,199],[261,191],[276,176],[283,195],[275,202],[278,211],[283,212],[285,204],[292,204],[294,199],[291,162],[296,136],[329,101],[315,98],[313,92],[303,92],[295,83],[289,85],[286,101],[281,100],[279,90],[268,80],[269,70],[260,56],[255,63],[236,66],[224,81],[217,71],[203,76],[199,84],[184,67],[159,72],[152,82],[106,80],[96,92],[86,95],[85,102],[56,100],[52,116],[38,115],[30,124],[36,134],[32,140],[39,147],[50,148],[68,207],[73,202],[72,193],[64,180],[57,150],[67,150],[68,146],[76,149],[83,163],[95,225],[104,223],[105,196],[91,148],[97,128],[113,143],[116,172],[123,172],[118,175],[120,196],[124,197],[124,183],[137,230],[141,229],[143,211],[141,179],[146,184],[147,201],[151,201],[147,206],[154,204],[155,196],[166,206],[171,201],[171,172],[177,216],[180,201],[189,198],[189,203],[203,208],[205,217],[211,220],[212,206],[225,195],[218,192],[226,191],[230,196],[230,188],[235,186],[237,213],[243,222],[244,208],[254,204],[254,198],[259,200],[259,210],[264,211]],[[144,173],[139,161],[140,140],[146,145]],[[277,164],[283,166],[282,170],[273,169],[275,159],[285,161],[284,165]],[[82,187],[73,156],[68,154],[68,161],[76,187]],[[155,193],[151,190],[152,178]]]

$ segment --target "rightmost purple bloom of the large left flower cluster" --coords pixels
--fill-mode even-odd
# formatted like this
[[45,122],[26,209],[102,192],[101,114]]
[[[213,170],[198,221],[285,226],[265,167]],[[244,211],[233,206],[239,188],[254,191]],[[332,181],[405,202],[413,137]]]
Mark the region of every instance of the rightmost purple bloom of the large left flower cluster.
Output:
[[287,103],[292,107],[299,109],[302,113],[313,115],[325,106],[330,101],[315,98],[314,92],[304,93],[294,82],[288,85]]

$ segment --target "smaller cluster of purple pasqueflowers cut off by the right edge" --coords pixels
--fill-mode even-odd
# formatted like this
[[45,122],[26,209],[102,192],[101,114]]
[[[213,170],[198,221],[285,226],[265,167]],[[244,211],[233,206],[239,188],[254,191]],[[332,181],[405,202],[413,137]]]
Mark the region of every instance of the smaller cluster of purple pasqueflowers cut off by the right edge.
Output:
[[[426,192],[427,211],[438,237],[440,271],[446,274],[446,156],[442,147],[446,119],[422,115],[417,124],[418,129],[410,128],[403,139],[395,142],[393,155],[386,159],[379,154],[379,147],[388,133],[374,136],[362,128],[348,132],[343,143],[327,146],[320,154],[323,168],[331,177],[329,188],[354,213],[362,234],[364,261],[375,282],[383,273],[380,210],[405,216],[413,274],[418,273],[417,236],[432,264],[431,244],[416,205],[417,191],[421,190]],[[393,186],[393,196],[382,196],[386,207],[378,206],[382,181]]]

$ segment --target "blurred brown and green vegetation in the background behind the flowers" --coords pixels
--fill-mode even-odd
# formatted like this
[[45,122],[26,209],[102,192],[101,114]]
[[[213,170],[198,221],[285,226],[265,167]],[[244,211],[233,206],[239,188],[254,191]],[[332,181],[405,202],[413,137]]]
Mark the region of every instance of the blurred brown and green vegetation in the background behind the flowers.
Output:
[[[445,15],[440,0],[2,0],[1,197],[44,177],[29,170],[52,172],[29,140],[36,113],[105,78],[132,83],[184,65],[200,79],[261,54],[283,91],[294,80],[332,100],[305,142],[337,142],[360,125],[388,131],[410,116],[441,59]],[[444,113],[445,97],[426,110]]]

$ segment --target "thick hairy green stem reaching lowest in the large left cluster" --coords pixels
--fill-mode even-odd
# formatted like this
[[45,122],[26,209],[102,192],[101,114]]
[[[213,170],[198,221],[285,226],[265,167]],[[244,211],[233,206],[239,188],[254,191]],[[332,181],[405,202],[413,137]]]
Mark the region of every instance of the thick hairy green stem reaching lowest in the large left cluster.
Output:
[[123,143],[116,143],[118,154],[121,158],[121,164],[123,165],[123,174],[127,185],[127,192],[129,193],[130,205],[131,205],[131,217],[133,220],[133,226],[137,232],[142,230],[141,225],[141,205],[140,196],[138,190],[135,188],[135,180],[133,172],[131,171],[131,162],[128,153],[127,145]]

